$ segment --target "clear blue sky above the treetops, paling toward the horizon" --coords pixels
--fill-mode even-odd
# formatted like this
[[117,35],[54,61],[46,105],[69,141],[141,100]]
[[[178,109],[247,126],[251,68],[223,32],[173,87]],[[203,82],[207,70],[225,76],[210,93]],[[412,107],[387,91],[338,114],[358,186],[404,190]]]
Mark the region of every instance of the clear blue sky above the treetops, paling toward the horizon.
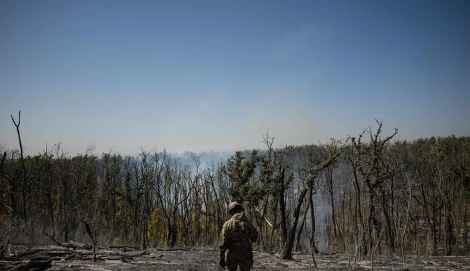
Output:
[[0,1],[0,143],[300,145],[374,118],[470,136],[470,1]]

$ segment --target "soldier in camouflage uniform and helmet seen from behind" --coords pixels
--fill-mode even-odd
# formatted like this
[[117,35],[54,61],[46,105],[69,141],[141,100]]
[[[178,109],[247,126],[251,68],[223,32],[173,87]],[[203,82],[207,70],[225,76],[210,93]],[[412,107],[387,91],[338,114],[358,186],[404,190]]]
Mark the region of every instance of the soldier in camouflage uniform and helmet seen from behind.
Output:
[[222,227],[219,264],[222,268],[227,266],[229,271],[235,271],[237,265],[241,271],[250,271],[253,266],[251,242],[258,239],[258,232],[243,211],[238,202],[229,204],[232,217]]

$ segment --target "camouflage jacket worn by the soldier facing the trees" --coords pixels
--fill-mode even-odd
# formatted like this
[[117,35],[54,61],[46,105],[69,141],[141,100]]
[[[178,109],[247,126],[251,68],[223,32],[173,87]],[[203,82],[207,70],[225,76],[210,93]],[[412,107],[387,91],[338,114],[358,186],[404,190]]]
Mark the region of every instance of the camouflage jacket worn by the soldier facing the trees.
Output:
[[[236,213],[225,222],[220,238],[220,252],[234,250],[252,252],[251,242],[256,242],[258,232],[244,213]],[[251,241],[251,242],[250,242]]]

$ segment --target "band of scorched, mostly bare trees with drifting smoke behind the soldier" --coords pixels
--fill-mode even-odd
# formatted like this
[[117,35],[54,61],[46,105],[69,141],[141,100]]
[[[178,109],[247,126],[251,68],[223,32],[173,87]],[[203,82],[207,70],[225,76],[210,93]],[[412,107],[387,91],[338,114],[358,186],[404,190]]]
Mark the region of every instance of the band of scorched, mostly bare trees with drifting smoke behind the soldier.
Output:
[[[15,122],[15,119],[12,117]],[[19,142],[20,119],[15,122]],[[214,153],[24,156],[0,147],[0,245],[52,236],[98,245],[216,247],[243,203],[255,249],[364,256],[469,254],[470,137],[396,140],[382,123],[325,144]],[[206,158],[211,156],[211,165]],[[202,163],[204,160],[204,163]]]

